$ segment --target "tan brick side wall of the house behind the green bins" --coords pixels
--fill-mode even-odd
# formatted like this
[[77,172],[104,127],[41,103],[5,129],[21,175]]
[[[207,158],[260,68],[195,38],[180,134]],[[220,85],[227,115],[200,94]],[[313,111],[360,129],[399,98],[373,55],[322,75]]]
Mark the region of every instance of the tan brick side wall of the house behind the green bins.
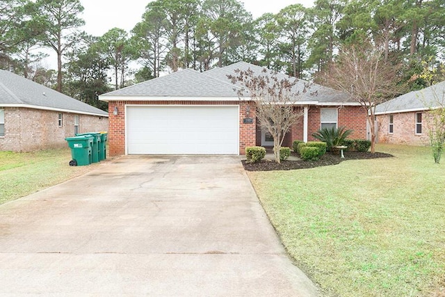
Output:
[[[66,137],[74,136],[74,113],[62,113],[58,127],[58,111],[5,108],[5,136],[0,137],[0,150],[30,152],[67,147]],[[79,133],[107,131],[108,118],[79,115]]]

